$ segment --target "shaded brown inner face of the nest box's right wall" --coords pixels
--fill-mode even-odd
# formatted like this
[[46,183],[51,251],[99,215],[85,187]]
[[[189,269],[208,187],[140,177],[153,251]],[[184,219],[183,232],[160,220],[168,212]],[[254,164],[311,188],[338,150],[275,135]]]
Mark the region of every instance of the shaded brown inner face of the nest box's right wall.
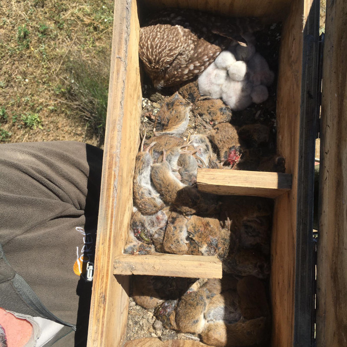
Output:
[[277,151],[292,174],[288,193],[275,200],[271,238],[272,346],[294,343],[296,215],[303,30],[311,1],[293,0],[282,26],[277,90]]

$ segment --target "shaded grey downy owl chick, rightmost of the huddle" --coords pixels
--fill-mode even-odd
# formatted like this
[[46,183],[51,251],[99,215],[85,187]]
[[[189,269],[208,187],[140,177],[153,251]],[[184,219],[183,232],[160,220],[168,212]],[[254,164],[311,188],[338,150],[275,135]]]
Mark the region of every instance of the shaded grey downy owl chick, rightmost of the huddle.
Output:
[[255,86],[263,84],[269,86],[275,78],[275,74],[270,70],[269,64],[259,53],[256,53],[252,59],[248,61],[249,79]]

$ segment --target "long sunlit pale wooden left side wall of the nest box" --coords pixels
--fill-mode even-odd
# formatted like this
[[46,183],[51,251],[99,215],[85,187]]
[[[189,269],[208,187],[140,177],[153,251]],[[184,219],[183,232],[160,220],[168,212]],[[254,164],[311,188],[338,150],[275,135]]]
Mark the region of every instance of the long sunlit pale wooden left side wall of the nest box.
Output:
[[136,1],[115,5],[108,114],[88,346],[121,346],[127,323],[129,277],[114,276],[132,209],[141,87]]

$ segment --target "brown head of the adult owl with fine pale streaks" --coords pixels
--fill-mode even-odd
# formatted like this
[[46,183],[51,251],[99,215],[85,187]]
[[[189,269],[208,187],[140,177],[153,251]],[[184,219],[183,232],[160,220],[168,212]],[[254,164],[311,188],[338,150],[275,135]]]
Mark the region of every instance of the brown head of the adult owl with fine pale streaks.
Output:
[[140,29],[139,56],[156,88],[170,85],[175,71],[184,66],[187,45],[191,44],[185,34],[189,30],[178,25],[157,24]]

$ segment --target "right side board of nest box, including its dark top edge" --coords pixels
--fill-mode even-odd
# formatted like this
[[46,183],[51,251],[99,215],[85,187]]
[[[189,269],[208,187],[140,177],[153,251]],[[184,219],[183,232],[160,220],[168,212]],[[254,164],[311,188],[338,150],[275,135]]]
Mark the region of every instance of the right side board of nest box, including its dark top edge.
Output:
[[286,173],[292,175],[292,186],[290,192],[275,200],[270,279],[273,346],[311,344],[313,248],[312,228],[309,230],[305,218],[310,208],[313,210],[310,187],[314,179],[315,136],[310,130],[315,130],[315,124],[310,125],[310,120],[315,116],[312,105],[317,101],[317,63],[312,60],[312,56],[318,56],[317,9],[317,0],[292,1],[282,27],[277,151],[286,158]]

